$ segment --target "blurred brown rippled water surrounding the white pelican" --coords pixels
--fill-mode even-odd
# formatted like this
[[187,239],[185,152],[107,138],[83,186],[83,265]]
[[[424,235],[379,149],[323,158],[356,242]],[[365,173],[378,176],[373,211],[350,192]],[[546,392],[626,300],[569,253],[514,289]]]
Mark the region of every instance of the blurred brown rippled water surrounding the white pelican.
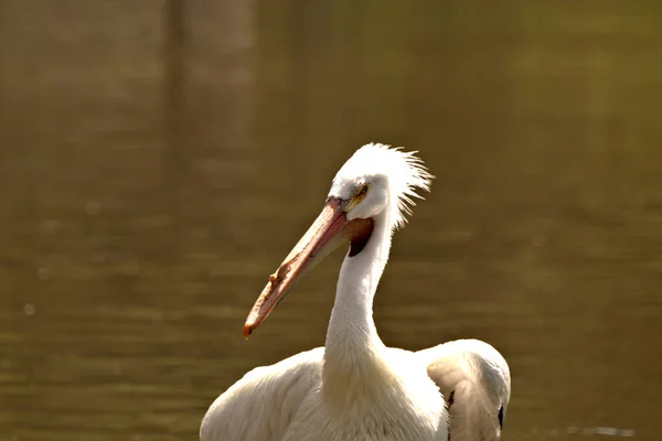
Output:
[[659,440],[662,3],[0,2],[0,440],[194,440],[322,345],[342,252],[252,338],[363,143],[437,179],[375,304],[509,361],[504,440]]

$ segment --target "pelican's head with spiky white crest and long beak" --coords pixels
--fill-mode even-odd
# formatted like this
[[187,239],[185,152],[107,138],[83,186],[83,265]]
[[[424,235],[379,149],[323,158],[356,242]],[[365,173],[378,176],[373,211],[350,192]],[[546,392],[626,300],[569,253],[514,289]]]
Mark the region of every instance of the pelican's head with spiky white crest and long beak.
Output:
[[365,144],[338,171],[318,218],[285,258],[255,302],[244,325],[248,335],[267,318],[293,283],[324,256],[351,244],[349,256],[370,240],[375,219],[391,232],[406,223],[417,190],[429,191],[433,175],[416,152],[384,144]]

